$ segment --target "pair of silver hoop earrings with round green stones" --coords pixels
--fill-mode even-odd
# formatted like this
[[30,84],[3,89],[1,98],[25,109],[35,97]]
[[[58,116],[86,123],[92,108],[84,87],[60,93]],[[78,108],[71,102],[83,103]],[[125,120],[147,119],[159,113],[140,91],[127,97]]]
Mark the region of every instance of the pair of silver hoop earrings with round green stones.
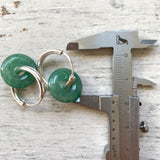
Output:
[[[57,69],[46,80],[43,75],[43,62],[51,54],[64,55],[68,59],[71,69]],[[81,79],[74,72],[70,57],[61,50],[44,52],[38,60],[38,65],[27,55],[13,54],[3,61],[1,76],[11,87],[12,95],[20,105],[35,106],[39,104],[44,97],[46,88],[56,100],[63,103],[75,102],[82,92]],[[39,100],[34,104],[28,104],[19,95],[18,89],[30,86],[35,80],[39,87]]]

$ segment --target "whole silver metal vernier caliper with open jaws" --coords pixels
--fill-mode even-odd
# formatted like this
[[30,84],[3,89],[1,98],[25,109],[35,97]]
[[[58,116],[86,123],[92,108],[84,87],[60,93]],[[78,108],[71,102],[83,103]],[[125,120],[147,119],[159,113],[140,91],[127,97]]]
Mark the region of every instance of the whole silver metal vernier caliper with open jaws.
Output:
[[146,121],[139,123],[137,87],[153,86],[152,81],[132,77],[131,49],[147,48],[156,40],[140,40],[137,31],[106,31],[73,41],[67,50],[113,48],[113,95],[82,95],[76,103],[107,112],[110,117],[110,145],[106,160],[139,160],[139,129],[148,131]]

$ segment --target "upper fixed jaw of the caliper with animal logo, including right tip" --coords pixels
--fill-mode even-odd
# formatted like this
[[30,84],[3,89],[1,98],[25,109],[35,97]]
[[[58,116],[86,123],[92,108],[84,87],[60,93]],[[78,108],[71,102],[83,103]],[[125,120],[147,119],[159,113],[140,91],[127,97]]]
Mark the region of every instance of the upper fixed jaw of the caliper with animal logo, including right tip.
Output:
[[[114,38],[114,36],[116,39]],[[132,37],[132,43],[128,38]],[[126,39],[125,39],[126,38]],[[84,49],[100,49],[109,48],[118,45],[129,45],[131,48],[148,48],[154,46],[157,40],[144,39],[139,40],[137,31],[105,31],[85,38],[81,38],[70,42],[67,50],[84,50]]]

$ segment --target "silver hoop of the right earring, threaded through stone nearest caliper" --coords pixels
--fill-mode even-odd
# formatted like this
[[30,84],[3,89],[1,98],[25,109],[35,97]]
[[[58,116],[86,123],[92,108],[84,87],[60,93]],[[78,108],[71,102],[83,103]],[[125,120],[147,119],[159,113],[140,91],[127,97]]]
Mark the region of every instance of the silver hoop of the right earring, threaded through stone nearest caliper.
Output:
[[65,53],[65,52],[63,52],[63,51],[61,51],[61,50],[54,49],[54,50],[49,50],[49,51],[44,52],[44,53],[40,56],[40,58],[39,58],[39,60],[38,60],[38,71],[39,71],[39,73],[41,74],[41,76],[42,76],[42,78],[43,78],[43,81],[44,81],[45,84],[46,84],[46,87],[48,87],[48,81],[46,80],[46,78],[45,78],[44,75],[43,75],[43,62],[44,62],[44,60],[46,59],[47,56],[49,56],[49,55],[51,55],[51,54],[55,54],[55,53],[56,53],[56,54],[59,54],[59,55],[62,55],[62,54],[63,54],[63,55],[68,59],[68,61],[69,61],[69,63],[70,63],[72,73],[71,73],[71,75],[70,75],[70,77],[69,77],[69,79],[68,79],[68,81],[67,81],[67,83],[66,83],[66,86],[69,86],[69,85],[71,85],[71,84],[74,82],[74,80],[75,80],[73,63],[72,63],[72,60],[70,59],[70,57],[68,56],[68,54]]

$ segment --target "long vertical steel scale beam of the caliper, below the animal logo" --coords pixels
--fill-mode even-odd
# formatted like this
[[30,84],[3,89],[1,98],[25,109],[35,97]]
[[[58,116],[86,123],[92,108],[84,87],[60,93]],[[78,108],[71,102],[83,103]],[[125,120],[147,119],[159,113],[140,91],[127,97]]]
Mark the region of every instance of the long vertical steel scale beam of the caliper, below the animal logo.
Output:
[[119,95],[120,159],[129,159],[129,96],[132,95],[132,55],[128,45],[113,53],[113,94]]

